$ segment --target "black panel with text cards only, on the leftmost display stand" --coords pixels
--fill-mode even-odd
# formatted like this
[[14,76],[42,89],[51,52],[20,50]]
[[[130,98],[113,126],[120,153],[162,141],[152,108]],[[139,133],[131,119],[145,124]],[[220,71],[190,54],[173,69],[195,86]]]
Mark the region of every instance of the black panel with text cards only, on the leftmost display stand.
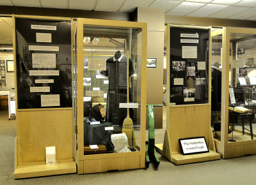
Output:
[[72,107],[71,22],[15,18],[18,108]]

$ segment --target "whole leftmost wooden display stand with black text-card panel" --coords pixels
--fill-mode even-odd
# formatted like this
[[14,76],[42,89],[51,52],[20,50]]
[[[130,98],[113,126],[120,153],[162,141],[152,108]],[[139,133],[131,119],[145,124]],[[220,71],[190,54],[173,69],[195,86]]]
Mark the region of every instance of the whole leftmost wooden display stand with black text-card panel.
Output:
[[13,15],[13,26],[17,107],[14,178],[76,173],[74,22],[71,18]]

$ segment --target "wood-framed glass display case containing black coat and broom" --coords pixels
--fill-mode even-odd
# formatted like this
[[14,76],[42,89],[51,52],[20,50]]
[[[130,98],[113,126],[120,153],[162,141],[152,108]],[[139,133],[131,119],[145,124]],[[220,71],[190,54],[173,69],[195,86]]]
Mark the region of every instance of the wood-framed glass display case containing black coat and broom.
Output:
[[[78,149],[81,173],[140,168],[145,156],[145,27],[78,19]],[[123,165],[92,165],[119,158]],[[127,162],[131,159],[132,164]],[[142,160],[142,161],[141,161]],[[83,161],[83,162],[82,162]],[[131,167],[132,166],[132,167]]]

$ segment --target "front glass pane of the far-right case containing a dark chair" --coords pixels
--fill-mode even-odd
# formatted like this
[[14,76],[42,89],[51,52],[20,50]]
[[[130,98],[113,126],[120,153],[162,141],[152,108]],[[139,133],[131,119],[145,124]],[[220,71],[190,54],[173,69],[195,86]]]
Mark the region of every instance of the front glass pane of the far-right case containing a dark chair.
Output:
[[256,34],[230,34],[229,142],[255,139],[255,53]]

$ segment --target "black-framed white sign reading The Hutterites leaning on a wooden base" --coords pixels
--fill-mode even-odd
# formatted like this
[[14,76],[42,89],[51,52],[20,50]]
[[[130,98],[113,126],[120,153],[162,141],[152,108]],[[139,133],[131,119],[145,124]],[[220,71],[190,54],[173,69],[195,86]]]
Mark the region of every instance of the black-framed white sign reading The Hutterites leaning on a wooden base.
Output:
[[183,155],[209,152],[205,137],[182,138],[179,144]]

